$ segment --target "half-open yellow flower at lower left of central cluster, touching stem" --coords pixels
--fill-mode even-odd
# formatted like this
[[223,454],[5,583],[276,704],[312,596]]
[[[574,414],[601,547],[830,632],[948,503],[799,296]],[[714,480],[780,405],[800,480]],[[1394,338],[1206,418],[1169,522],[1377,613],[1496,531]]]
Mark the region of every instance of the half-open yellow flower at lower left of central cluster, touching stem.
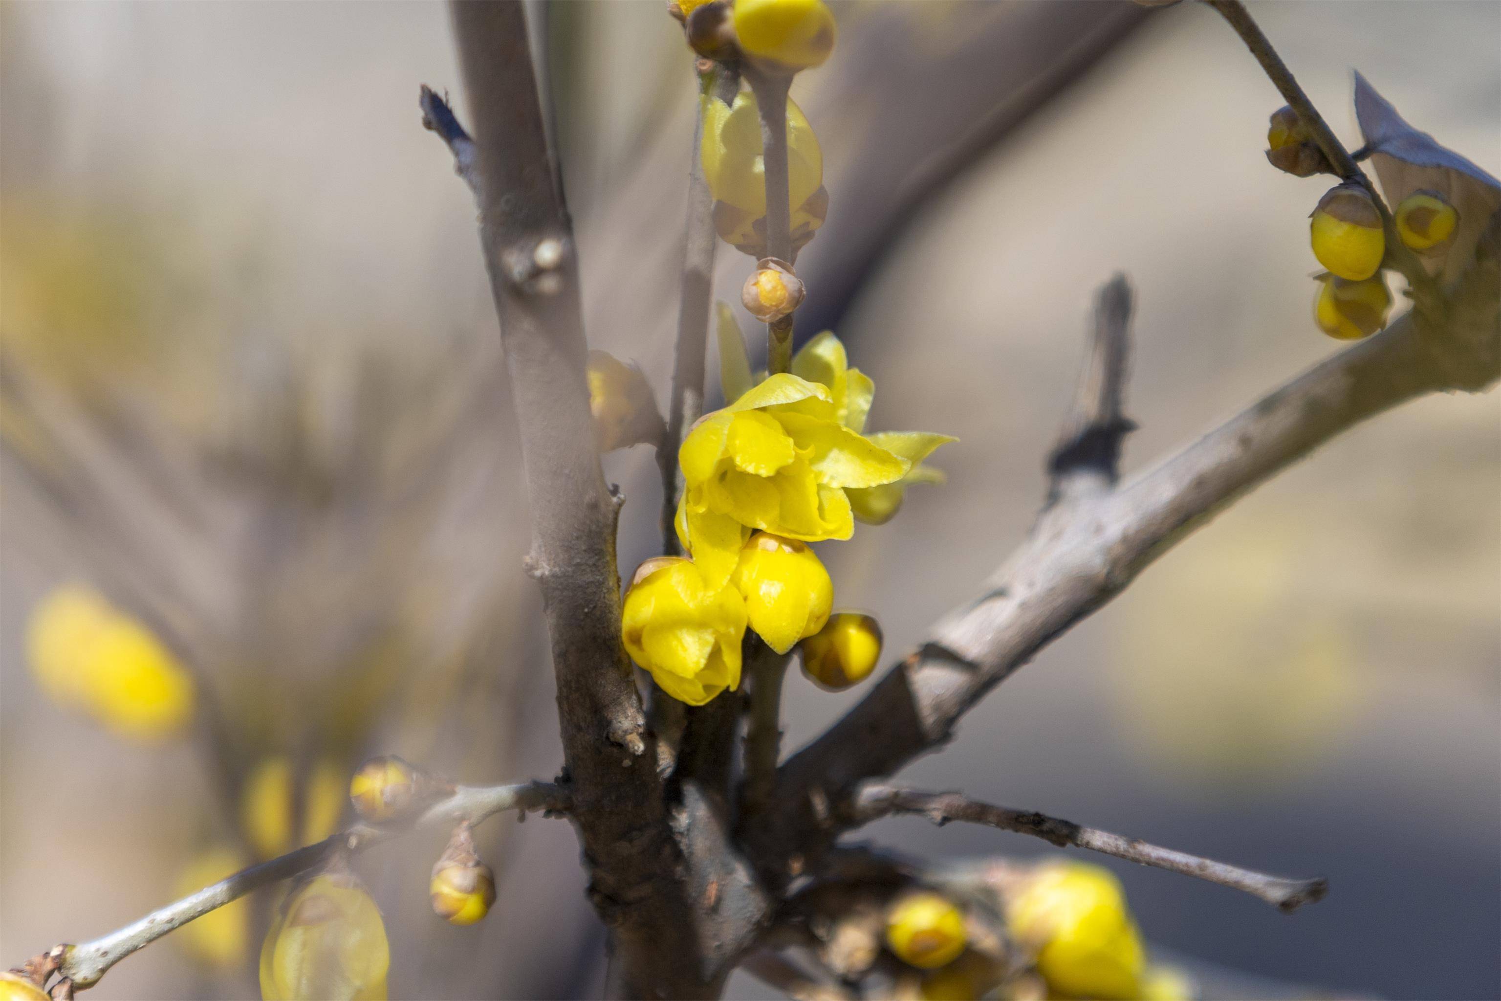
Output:
[[626,651],[680,702],[702,705],[740,686],[746,603],[728,579],[728,570],[713,582],[692,560],[656,557],[626,591]]

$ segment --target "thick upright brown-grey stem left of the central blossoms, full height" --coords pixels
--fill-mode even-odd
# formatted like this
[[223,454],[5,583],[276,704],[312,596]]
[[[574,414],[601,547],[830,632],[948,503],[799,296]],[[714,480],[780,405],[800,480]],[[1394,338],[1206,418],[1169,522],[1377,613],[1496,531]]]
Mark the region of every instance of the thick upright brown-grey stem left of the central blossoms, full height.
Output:
[[[573,234],[554,183],[519,3],[450,5],[480,237],[531,500],[573,821],[611,929],[611,993],[714,996],[769,905],[696,786],[657,771],[620,642],[617,497],[594,453]],[[705,908],[711,894],[717,908]]]

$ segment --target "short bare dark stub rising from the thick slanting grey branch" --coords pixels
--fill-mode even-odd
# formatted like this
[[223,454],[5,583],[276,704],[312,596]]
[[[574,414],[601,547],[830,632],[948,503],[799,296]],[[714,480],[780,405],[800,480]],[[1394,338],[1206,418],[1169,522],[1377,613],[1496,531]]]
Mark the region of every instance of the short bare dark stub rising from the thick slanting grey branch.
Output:
[[1073,408],[1048,459],[1048,501],[1115,486],[1121,441],[1133,425],[1123,413],[1126,366],[1130,359],[1132,291],[1117,275],[1094,300],[1094,339],[1079,374]]

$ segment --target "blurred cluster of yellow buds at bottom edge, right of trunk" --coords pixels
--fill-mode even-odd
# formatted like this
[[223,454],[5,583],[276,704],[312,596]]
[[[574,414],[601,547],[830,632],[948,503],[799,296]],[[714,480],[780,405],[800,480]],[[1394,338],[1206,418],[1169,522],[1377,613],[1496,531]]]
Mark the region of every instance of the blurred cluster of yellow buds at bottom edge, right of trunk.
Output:
[[[1126,894],[1109,870],[1048,861],[1013,882],[1004,900],[1006,929],[1031,957],[1048,996],[1193,996],[1181,972],[1147,962]],[[904,963],[923,971],[919,992],[928,1001],[979,998],[1007,977],[1004,963],[988,962],[976,951],[976,941],[961,905],[943,893],[913,890],[887,908],[886,945]]]

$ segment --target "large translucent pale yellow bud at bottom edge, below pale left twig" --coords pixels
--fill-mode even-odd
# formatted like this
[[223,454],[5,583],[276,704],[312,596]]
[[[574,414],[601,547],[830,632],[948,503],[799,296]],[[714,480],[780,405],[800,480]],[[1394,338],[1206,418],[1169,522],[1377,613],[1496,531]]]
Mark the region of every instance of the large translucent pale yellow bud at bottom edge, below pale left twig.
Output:
[[294,888],[261,947],[264,1001],[384,1001],[390,945],[380,908],[354,876]]

